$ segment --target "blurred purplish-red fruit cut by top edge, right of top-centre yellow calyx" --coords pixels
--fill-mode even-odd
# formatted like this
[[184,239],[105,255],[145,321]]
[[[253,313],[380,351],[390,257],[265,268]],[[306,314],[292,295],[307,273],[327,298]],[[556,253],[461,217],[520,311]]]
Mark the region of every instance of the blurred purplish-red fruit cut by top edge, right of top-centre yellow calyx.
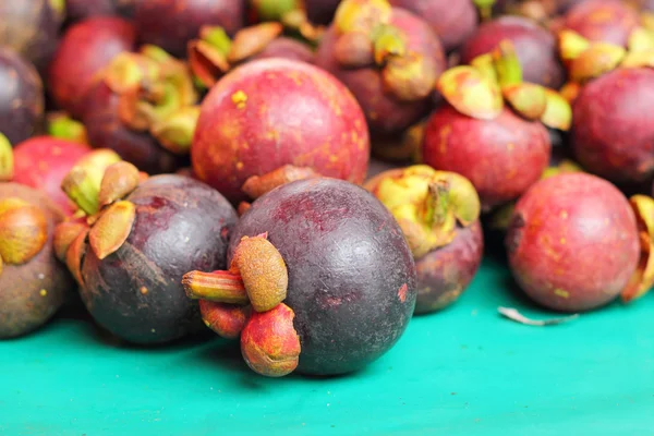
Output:
[[390,0],[390,4],[429,23],[446,51],[457,49],[477,25],[477,12],[471,0]]

